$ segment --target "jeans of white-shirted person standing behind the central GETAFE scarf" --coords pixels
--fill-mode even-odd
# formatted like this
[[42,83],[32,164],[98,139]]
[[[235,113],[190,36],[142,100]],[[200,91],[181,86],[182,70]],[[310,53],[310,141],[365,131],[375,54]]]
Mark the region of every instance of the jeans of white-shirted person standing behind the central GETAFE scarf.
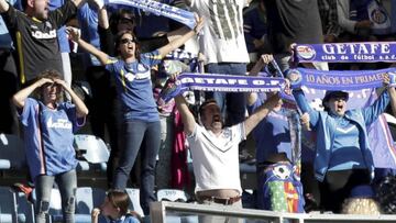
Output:
[[[246,65],[243,63],[208,64],[207,71],[210,74],[245,75]],[[226,125],[230,126],[245,119],[246,99],[243,92],[207,92],[206,99],[213,98],[220,107]]]

